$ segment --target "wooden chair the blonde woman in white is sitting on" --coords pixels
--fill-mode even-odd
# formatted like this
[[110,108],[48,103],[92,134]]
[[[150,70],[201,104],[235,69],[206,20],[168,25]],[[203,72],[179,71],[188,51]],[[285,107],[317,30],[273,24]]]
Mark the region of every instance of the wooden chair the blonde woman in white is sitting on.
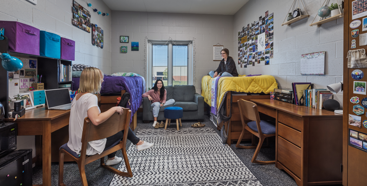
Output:
[[[99,124],[98,126],[92,124],[92,122],[87,118],[84,119],[83,133],[81,137],[82,146],[80,157],[74,151],[67,147],[67,143],[60,147],[60,161],[59,161],[59,186],[65,186],[63,184],[63,159],[64,155],[70,157],[74,160],[79,167],[80,178],[83,186],[88,186],[87,178],[85,176],[84,166],[86,164],[92,163],[95,160],[101,160],[101,166],[117,175],[132,177],[132,172],[130,164],[127,159],[126,154],[126,140],[127,131],[130,122],[131,111],[129,109],[123,109],[123,114],[120,116],[118,113],[112,115],[106,122]],[[122,141],[116,141],[113,145],[106,148],[101,154],[95,154],[92,156],[86,156],[87,144],[89,141],[98,140],[110,137],[116,134],[118,131],[124,130]],[[119,171],[113,167],[105,165],[105,156],[111,154],[117,150],[122,150],[123,160],[125,161],[125,166],[127,172]]]

